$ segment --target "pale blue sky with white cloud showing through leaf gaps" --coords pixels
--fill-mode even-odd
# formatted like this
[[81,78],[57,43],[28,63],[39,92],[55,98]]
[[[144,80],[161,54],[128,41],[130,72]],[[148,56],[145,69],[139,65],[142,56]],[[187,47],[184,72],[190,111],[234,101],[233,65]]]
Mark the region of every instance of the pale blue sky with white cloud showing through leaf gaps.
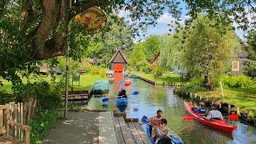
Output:
[[[181,7],[182,7],[182,23],[183,23],[185,22],[185,19],[186,19],[186,4],[184,2],[181,2]],[[124,10],[121,10],[118,13],[120,17],[125,18],[126,21],[130,21],[130,19],[127,17],[128,14],[129,14],[129,11],[124,11]],[[249,20],[251,20],[251,15],[247,15],[247,17],[249,18]],[[137,42],[139,39],[142,39],[142,40],[146,39],[152,34],[162,35],[162,34],[170,33],[169,32],[170,26],[168,26],[168,24],[171,22],[172,19],[174,18],[167,12],[162,14],[162,16],[157,19],[158,24],[156,26],[148,26],[146,36],[141,38],[134,38],[134,42]],[[233,25],[234,27],[238,26],[236,23],[234,23]],[[239,38],[242,39],[242,41],[244,42],[246,41],[246,38],[245,38],[246,32],[244,32],[243,30],[236,29],[235,33],[238,35]]]

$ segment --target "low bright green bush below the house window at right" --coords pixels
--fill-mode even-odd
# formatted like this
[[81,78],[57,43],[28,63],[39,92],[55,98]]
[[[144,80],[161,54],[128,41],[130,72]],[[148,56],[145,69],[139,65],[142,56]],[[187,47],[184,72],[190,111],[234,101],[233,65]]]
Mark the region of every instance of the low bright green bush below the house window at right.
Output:
[[224,86],[228,86],[230,88],[253,88],[256,86],[255,81],[246,75],[225,75],[222,76],[221,81],[224,83]]

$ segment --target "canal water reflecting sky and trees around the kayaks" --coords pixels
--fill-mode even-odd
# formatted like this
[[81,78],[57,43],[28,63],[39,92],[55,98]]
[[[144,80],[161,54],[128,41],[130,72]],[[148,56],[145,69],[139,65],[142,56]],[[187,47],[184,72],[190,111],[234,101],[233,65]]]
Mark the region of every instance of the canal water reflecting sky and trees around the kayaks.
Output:
[[[185,143],[188,144],[210,144],[210,143],[235,143],[235,144],[255,144],[256,129],[240,122],[232,122],[238,126],[234,134],[227,134],[219,130],[214,130],[204,126],[199,122],[184,121],[182,117],[189,116],[186,113],[183,99],[174,94],[171,87],[154,86],[139,79],[131,79],[131,86],[122,86],[122,82],[113,83],[108,98],[114,98],[118,90],[122,87],[126,89],[126,94],[138,91],[138,95],[130,95],[128,106],[122,110],[127,114],[127,118],[139,118],[143,115],[154,116],[156,111],[161,109],[167,119],[167,126],[174,130]],[[87,109],[90,110],[114,110],[119,111],[114,100],[102,103],[102,98],[91,98]]]

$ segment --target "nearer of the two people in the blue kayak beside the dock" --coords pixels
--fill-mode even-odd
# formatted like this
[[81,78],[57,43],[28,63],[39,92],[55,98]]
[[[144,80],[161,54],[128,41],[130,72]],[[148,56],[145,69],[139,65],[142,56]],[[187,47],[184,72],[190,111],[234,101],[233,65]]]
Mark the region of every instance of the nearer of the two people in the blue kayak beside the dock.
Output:
[[159,128],[154,126],[152,129],[152,138],[155,139],[155,143],[170,143],[170,138],[166,137],[170,135],[170,130],[167,128],[167,120],[162,118],[160,121]]

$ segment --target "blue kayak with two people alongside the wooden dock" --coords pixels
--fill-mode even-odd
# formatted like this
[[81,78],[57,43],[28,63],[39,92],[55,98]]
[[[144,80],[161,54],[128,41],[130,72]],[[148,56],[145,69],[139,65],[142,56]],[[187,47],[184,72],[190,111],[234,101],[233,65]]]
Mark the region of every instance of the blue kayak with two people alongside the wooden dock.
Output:
[[[151,138],[151,129],[150,129],[150,125],[147,125],[147,124],[146,124],[146,130],[145,130],[145,131],[146,131],[146,135],[150,138],[151,143],[152,143],[152,144],[155,144],[154,139]],[[173,131],[172,131],[172,132],[173,132]],[[174,133],[174,132],[173,132],[173,133]],[[166,143],[165,138],[160,139],[158,143],[161,143],[161,141],[164,142],[164,143]],[[182,141],[181,138],[178,137],[177,134],[174,134],[174,135],[173,135],[173,134],[170,134],[170,144],[183,144],[183,141]]]

